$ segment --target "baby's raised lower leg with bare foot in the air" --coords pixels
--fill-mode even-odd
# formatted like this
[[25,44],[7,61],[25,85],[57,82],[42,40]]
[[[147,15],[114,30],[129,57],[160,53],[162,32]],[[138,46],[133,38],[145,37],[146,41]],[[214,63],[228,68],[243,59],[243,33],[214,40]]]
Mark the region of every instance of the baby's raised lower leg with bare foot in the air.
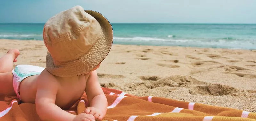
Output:
[[11,49],[4,56],[0,58],[0,73],[12,71],[13,62],[17,61],[20,54],[19,50]]

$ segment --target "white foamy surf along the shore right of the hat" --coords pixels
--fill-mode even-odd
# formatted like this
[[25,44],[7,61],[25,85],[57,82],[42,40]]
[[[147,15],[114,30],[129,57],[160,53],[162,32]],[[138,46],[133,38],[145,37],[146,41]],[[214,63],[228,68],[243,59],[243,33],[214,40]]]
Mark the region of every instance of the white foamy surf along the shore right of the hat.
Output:
[[256,49],[256,40],[234,38],[156,38],[156,37],[114,37],[116,44],[154,45],[154,46],[186,46],[186,47],[211,47],[230,49]]

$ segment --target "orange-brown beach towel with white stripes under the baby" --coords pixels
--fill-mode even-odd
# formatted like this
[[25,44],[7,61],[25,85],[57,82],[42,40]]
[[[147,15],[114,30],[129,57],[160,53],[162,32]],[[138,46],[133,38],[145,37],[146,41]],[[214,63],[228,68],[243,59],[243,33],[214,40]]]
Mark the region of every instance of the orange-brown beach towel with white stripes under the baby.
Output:
[[[104,120],[108,121],[256,121],[256,113],[232,108],[177,101],[162,97],[137,97],[125,92],[102,88],[107,100],[108,110]],[[80,114],[89,106],[84,93],[69,110]],[[0,121],[37,121],[35,104],[21,103],[15,96],[0,95]]]

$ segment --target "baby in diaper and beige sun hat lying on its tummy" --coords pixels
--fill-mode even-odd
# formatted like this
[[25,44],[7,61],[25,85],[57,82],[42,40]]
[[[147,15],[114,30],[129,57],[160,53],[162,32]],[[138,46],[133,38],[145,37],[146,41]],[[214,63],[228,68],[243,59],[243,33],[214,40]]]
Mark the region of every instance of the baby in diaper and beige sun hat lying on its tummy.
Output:
[[[24,103],[35,103],[41,120],[102,120],[107,99],[96,69],[113,42],[108,20],[98,12],[75,6],[50,18],[43,29],[48,49],[46,68],[17,65],[19,51],[9,50],[0,58],[0,93],[17,95]],[[90,107],[73,115],[66,111],[86,92]]]

